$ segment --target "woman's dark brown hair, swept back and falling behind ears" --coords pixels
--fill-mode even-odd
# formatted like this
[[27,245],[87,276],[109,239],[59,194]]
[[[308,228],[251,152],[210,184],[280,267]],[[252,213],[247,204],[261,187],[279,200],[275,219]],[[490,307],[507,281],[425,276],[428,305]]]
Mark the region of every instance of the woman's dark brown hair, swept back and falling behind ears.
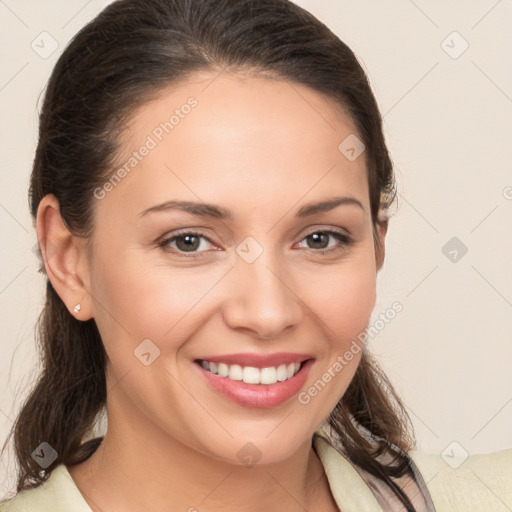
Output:
[[[288,0],[119,0],[106,7],[72,39],[48,82],[30,182],[33,218],[41,199],[54,194],[70,231],[88,237],[93,191],[115,168],[134,109],[193,72],[222,69],[299,83],[345,109],[366,146],[378,247],[378,212],[396,192],[377,103],[353,52]],[[84,437],[106,404],[106,355],[94,319],[73,318],[48,279],[37,334],[42,372],[10,434],[18,491],[40,485],[58,464],[87,459],[101,438]],[[394,482],[413,446],[410,420],[367,351],[328,423],[340,451],[414,510]],[[46,470],[31,457],[41,442],[58,454]],[[392,454],[393,464],[382,454]]]

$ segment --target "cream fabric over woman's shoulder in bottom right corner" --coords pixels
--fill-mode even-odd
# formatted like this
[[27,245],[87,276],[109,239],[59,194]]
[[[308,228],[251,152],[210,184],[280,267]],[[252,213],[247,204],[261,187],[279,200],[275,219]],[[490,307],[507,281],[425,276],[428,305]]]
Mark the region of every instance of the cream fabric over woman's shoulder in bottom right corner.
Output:
[[437,512],[512,507],[512,449],[456,456],[411,452]]

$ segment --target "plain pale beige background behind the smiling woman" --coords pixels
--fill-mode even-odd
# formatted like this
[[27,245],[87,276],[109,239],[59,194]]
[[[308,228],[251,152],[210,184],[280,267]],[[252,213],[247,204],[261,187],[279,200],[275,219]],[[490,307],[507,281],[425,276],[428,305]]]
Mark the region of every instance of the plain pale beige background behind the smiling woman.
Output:
[[[2,442],[35,376],[43,277],[27,185],[38,98],[67,41],[107,3],[0,1]],[[422,450],[512,447],[511,1],[298,3],[360,58],[396,165],[400,195],[375,318],[395,301],[404,309],[372,350],[404,398]],[[46,58],[31,47],[42,37],[46,51],[58,43]],[[452,237],[465,255],[442,252]],[[0,496],[12,486],[12,464],[4,456]]]

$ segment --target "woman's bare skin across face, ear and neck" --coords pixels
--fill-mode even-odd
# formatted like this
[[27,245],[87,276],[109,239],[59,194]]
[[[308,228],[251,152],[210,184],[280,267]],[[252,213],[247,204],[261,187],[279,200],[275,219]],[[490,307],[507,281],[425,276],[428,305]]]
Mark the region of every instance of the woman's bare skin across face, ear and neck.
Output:
[[[48,276],[70,314],[95,319],[108,355],[108,431],[90,459],[68,468],[94,511],[336,510],[311,440],[360,354],[307,405],[295,396],[266,409],[220,396],[193,361],[309,354],[307,390],[348,350],[368,325],[384,258],[373,240],[365,155],[349,161],[340,153],[357,132],[321,94],[268,77],[217,75],[197,74],[134,113],[120,165],[175,108],[198,101],[128,176],[93,199],[91,255],[53,196],[39,206],[38,237],[57,247],[45,262]],[[295,217],[333,196],[363,208]],[[171,199],[215,203],[233,218],[139,215]],[[178,255],[177,241],[159,247],[182,228],[211,240],[200,239],[198,258]],[[330,229],[353,243],[308,241]],[[251,264],[235,251],[248,236],[263,247]],[[378,236],[384,247],[385,229]],[[134,356],[144,339],[160,350],[149,366]],[[261,455],[253,467],[237,455],[248,442]]]

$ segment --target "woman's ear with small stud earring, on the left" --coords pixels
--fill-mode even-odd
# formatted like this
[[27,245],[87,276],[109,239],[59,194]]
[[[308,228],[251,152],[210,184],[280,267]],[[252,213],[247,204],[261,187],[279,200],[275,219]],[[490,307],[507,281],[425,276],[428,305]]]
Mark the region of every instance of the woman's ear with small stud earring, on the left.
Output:
[[[53,288],[72,316],[89,320],[92,304],[85,238],[69,231],[53,194],[46,195],[39,203],[36,230],[46,275]],[[80,310],[75,312],[77,304]]]

